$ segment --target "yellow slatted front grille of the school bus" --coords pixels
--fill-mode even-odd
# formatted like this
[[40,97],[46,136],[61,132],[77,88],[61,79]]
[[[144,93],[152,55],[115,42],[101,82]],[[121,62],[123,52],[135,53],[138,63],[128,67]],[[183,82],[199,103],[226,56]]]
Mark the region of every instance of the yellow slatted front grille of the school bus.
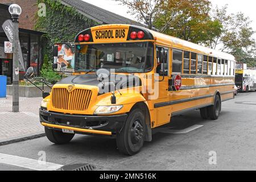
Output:
[[71,93],[66,88],[52,89],[52,106],[56,109],[84,111],[88,109],[92,90],[75,89]]

